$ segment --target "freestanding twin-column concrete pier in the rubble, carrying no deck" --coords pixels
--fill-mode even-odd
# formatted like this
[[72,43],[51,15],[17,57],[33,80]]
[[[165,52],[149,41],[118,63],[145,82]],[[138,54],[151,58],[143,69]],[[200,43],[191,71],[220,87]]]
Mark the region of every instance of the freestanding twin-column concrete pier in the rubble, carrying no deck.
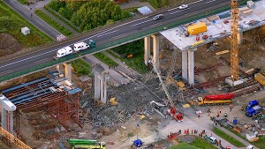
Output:
[[95,75],[95,101],[100,99],[105,104],[107,101],[107,81],[110,79],[109,72],[104,71],[98,63],[92,67],[92,71]]

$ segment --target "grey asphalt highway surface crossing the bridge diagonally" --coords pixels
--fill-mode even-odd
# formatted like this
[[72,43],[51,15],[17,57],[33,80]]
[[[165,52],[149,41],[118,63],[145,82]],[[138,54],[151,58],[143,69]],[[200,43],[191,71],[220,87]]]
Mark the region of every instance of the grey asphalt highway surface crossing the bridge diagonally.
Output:
[[117,41],[118,39],[125,38],[133,34],[137,34],[146,31],[157,26],[163,26],[170,24],[181,19],[186,19],[190,16],[199,14],[201,12],[207,12],[220,8],[226,4],[229,4],[230,0],[199,0],[189,4],[188,8],[184,10],[178,9],[178,7],[163,11],[164,19],[154,21],[154,16],[149,16],[125,24],[113,26],[112,28],[103,29],[95,34],[87,34],[85,37],[79,37],[72,41],[62,42],[62,44],[56,45],[52,48],[45,48],[41,51],[37,51],[26,56],[19,56],[10,61],[0,63],[0,77],[11,74],[17,71],[27,70],[35,65],[54,61],[53,57],[56,56],[57,50],[68,45],[72,45],[78,41],[88,41],[89,39],[97,42],[97,46],[109,43],[111,41]]

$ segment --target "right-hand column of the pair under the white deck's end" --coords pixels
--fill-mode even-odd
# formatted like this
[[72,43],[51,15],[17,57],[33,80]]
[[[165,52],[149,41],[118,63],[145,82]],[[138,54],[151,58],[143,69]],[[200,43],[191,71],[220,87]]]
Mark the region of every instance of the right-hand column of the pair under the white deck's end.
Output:
[[194,85],[194,51],[196,49],[188,50],[188,82]]

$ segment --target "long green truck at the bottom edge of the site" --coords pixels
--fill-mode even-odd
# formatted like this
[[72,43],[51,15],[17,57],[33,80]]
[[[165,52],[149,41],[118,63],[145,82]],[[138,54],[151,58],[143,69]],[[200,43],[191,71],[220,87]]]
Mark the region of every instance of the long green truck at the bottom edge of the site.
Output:
[[99,142],[95,139],[69,139],[68,143],[72,149],[106,149],[104,142]]

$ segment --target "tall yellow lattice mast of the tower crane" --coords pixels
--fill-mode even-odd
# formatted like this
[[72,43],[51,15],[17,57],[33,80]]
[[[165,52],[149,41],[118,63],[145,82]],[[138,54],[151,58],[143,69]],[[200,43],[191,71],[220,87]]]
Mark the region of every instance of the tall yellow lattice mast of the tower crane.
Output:
[[231,0],[231,78],[239,80],[239,3]]

